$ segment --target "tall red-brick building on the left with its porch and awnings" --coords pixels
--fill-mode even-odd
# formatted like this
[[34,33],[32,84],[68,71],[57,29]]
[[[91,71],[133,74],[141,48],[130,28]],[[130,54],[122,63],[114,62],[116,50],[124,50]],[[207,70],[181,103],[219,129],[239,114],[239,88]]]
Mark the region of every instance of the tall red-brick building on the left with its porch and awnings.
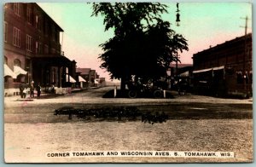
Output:
[[6,3],[3,30],[5,95],[18,94],[20,83],[32,80],[69,86],[76,62],[61,52],[63,30],[37,3]]

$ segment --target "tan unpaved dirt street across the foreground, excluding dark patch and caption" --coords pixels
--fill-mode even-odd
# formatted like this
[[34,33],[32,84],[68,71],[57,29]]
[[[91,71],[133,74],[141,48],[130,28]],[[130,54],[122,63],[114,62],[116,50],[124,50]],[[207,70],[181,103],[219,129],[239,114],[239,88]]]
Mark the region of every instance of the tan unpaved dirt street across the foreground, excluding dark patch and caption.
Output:
[[[102,98],[109,89],[90,89],[55,98],[5,99],[4,157],[7,162],[251,162],[251,100],[224,100],[198,95],[174,99]],[[55,109],[132,106],[164,111],[163,124],[137,121],[68,119]],[[235,158],[47,158],[69,151],[234,152]]]

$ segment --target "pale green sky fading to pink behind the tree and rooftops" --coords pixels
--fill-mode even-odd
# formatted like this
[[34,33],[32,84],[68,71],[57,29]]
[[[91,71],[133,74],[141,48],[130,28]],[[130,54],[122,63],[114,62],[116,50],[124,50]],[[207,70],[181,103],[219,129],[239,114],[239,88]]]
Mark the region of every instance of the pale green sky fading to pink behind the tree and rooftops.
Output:
[[[180,26],[176,26],[176,3],[166,3],[168,14],[162,19],[170,21],[171,28],[188,40],[189,51],[179,53],[183,64],[192,64],[193,54],[209,49],[252,32],[251,3],[179,3]],[[38,3],[64,30],[61,33],[61,45],[65,56],[77,61],[77,67],[96,69],[100,77],[109,79],[108,72],[99,66],[102,54],[99,47],[110,37],[113,31],[105,32],[102,16],[91,16],[91,4],[88,3]]]

